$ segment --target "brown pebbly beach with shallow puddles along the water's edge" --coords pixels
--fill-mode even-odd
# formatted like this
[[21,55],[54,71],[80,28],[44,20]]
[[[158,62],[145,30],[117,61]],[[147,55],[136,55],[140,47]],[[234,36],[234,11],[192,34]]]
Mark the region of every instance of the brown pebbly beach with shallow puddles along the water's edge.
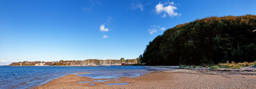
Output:
[[[185,71],[185,72],[184,72]],[[82,74],[82,73],[79,73]],[[83,81],[108,80],[66,75],[54,79],[35,89],[184,89],[184,88],[256,88],[256,75],[204,74],[186,70],[152,71],[135,78],[121,77],[117,81],[78,83]],[[105,85],[107,83],[129,83],[126,85]],[[95,84],[95,85],[90,85]]]

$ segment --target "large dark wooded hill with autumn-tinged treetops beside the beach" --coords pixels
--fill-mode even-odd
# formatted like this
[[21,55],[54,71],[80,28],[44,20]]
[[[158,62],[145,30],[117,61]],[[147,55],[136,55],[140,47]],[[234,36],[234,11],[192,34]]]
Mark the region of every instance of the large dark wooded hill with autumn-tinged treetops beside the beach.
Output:
[[145,65],[256,61],[256,16],[206,17],[176,25],[149,42]]

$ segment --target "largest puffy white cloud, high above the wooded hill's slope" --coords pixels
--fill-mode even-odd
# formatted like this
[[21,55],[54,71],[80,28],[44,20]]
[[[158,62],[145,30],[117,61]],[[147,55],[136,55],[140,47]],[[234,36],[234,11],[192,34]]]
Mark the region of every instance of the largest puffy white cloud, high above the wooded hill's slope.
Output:
[[[168,1],[169,2],[169,1]],[[166,14],[168,14],[170,17],[173,16],[180,16],[181,14],[175,12],[176,9],[178,9],[174,5],[173,1],[172,3],[169,3],[168,6],[164,6],[163,4],[161,4],[160,2],[156,5],[155,10],[157,14],[161,14],[163,13],[162,17],[166,17]]]

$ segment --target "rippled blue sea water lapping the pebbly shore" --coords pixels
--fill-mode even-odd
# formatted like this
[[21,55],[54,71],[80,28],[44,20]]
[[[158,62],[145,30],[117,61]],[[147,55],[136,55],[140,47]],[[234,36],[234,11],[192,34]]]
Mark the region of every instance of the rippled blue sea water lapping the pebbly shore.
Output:
[[119,78],[140,76],[150,70],[143,66],[99,66],[99,67],[60,67],[60,66],[0,66],[0,89],[26,89],[40,86],[52,79],[79,72],[89,78]]

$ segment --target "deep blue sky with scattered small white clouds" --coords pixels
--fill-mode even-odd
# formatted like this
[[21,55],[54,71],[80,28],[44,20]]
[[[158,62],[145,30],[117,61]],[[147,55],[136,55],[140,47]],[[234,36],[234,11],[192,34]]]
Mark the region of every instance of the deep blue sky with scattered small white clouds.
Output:
[[175,25],[255,8],[255,0],[0,0],[0,65],[137,58]]

